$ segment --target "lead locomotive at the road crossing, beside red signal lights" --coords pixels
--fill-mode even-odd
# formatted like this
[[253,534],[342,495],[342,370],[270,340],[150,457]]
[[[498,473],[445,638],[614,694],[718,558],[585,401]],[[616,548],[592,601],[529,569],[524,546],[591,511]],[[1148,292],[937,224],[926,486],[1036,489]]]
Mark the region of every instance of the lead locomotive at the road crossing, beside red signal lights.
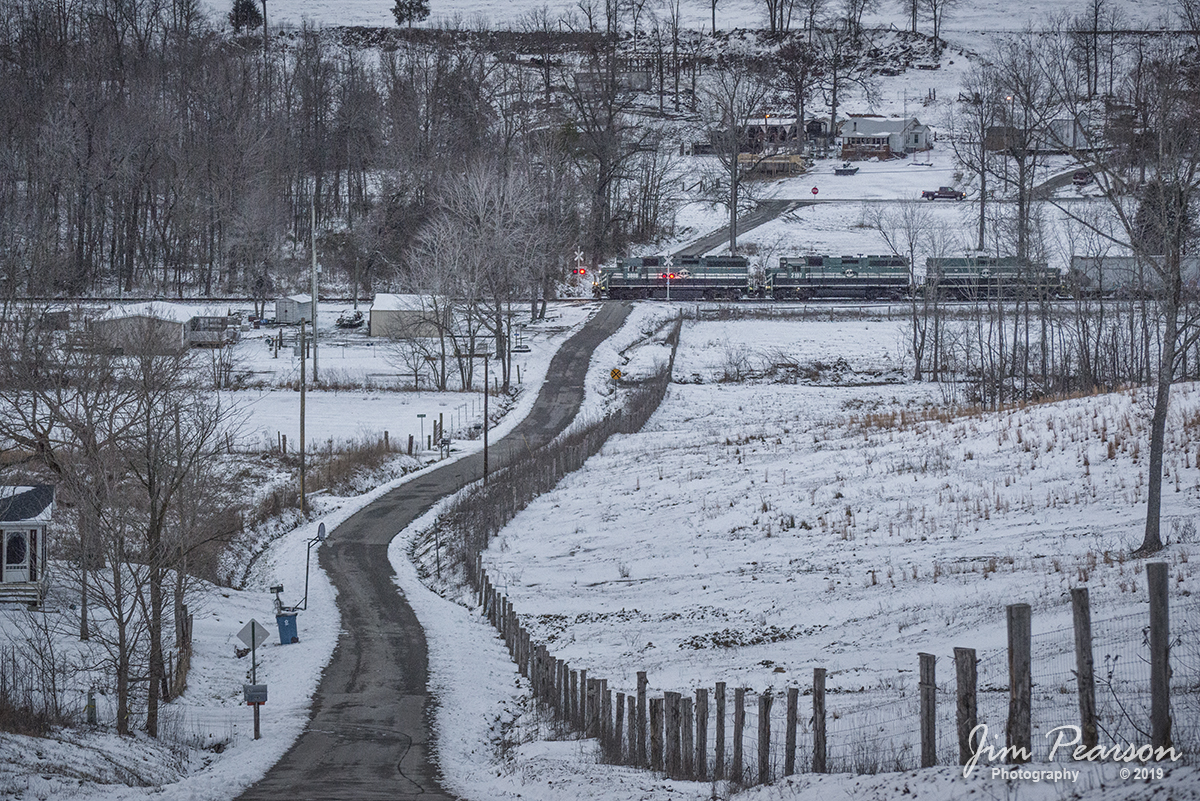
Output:
[[752,295],[749,261],[743,257],[666,257],[618,259],[593,284],[596,297],[613,300],[737,300]]

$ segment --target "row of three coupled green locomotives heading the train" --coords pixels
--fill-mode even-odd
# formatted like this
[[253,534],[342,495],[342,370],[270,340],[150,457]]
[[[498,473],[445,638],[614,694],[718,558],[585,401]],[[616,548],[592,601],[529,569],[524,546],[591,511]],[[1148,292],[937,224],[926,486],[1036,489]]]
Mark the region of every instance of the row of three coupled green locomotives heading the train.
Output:
[[1015,258],[928,259],[925,281],[914,284],[908,259],[900,255],[798,255],[751,270],[740,255],[643,257],[618,259],[592,284],[596,297],[612,300],[901,300],[936,293],[955,300],[1052,296],[1061,290],[1057,270],[1021,266]]

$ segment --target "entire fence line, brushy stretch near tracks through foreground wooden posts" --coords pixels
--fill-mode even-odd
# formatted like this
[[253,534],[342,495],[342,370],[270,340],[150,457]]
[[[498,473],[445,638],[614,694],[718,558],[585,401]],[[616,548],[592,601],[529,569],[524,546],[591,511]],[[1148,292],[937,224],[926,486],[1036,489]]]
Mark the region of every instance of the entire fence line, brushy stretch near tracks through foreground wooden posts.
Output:
[[[1081,722],[1070,711],[1073,706],[1063,703],[1074,700],[1078,692],[1079,671],[1073,664],[1080,651],[1073,648],[1076,636],[1072,628],[1032,634],[1026,604],[1009,607],[1010,649],[1024,655],[1019,663],[1028,666],[1016,674],[1015,685],[1010,680],[1009,652],[1003,650],[979,655],[966,666],[973,668],[974,675],[966,689],[959,681],[972,671],[956,670],[954,657],[926,661],[926,668],[936,670],[941,681],[926,683],[924,709],[932,719],[926,719],[924,727],[930,739],[925,749],[919,686],[827,692],[826,671],[817,668],[809,687],[756,692],[716,682],[712,688],[652,695],[644,671],[637,674],[637,687],[610,687],[605,679],[589,675],[587,668],[556,657],[547,644],[523,627],[517,610],[484,567],[482,550],[517,512],[581,466],[608,436],[638,430],[646,423],[666,393],[679,326],[676,320],[667,337],[671,363],[631,395],[623,412],[564,434],[498,472],[487,484],[469,489],[439,520],[438,530],[451,536],[440,537],[446,544],[436,547],[445,547],[446,561],[462,571],[481,613],[504,639],[534,697],[564,729],[598,739],[606,760],[682,779],[725,778],[752,785],[788,772],[908,770],[919,766],[923,757],[928,763],[930,755],[936,764],[956,764],[965,758],[965,745],[971,749],[977,745],[967,741],[960,719],[962,710],[971,711],[994,735],[1000,733],[1002,743],[1013,736],[1010,731],[1016,731],[1020,741],[1033,746],[1033,758],[1044,758],[1049,743],[1040,735],[1056,725]],[[1147,573],[1153,568],[1163,574],[1165,564],[1157,565],[1150,565]],[[1162,590],[1165,597],[1165,582]],[[1192,614],[1200,612],[1196,607],[1193,603],[1189,613],[1177,614],[1170,627],[1176,666],[1170,703],[1176,721],[1181,712],[1189,715],[1175,727],[1174,745],[1192,761],[1200,746],[1195,715],[1200,707],[1200,624],[1192,622],[1198,620]],[[1014,621],[1024,621],[1015,639]],[[1150,735],[1144,737],[1142,733],[1154,725],[1150,719],[1152,655],[1146,616],[1123,615],[1092,625],[1088,613],[1087,622],[1087,651],[1094,663],[1097,692],[1092,717],[1103,731],[1100,743],[1148,743]],[[614,704],[622,705],[619,711]]]

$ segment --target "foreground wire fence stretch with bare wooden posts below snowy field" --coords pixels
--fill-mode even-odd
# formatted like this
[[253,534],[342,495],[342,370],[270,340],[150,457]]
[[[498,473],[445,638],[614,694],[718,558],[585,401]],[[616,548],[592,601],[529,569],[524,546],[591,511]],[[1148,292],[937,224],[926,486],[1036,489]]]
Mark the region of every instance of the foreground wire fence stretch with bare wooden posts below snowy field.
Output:
[[[937,671],[941,680],[929,688],[931,706],[923,704],[919,682],[904,681],[868,689],[835,685],[826,689],[823,680],[808,687],[762,692],[724,686],[683,693],[643,688],[643,697],[654,695],[649,715],[635,712],[632,706],[628,713],[623,709],[623,722],[614,730],[612,699],[619,698],[617,691],[610,692],[606,682],[588,677],[586,670],[572,670],[545,645],[532,640],[508,600],[491,586],[481,565],[479,577],[484,612],[504,634],[535,694],[546,700],[568,729],[581,736],[598,736],[610,761],[677,778],[724,777],[743,787],[768,783],[786,773],[906,771],[926,764],[926,713],[932,719],[931,731],[926,728],[932,764],[959,764],[965,755],[953,655],[937,660],[943,667]],[[1182,598],[1170,616],[1171,743],[1184,764],[1194,765],[1200,754],[1200,604]],[[1150,628],[1145,613],[1091,621],[1097,745],[1104,749],[1116,747],[1123,752],[1153,741]],[[1031,753],[1034,761],[1045,761],[1056,741],[1074,746],[1073,740],[1085,728],[1075,631],[1056,628],[1028,639]],[[1008,723],[1018,697],[1010,686],[1009,655],[1006,649],[990,649],[974,656],[976,722],[986,727],[985,745],[1000,749],[1010,742]],[[626,704],[634,692],[622,693]],[[673,704],[682,711],[672,712]],[[637,733],[630,737],[630,729],[637,727],[643,728],[642,737]],[[979,745],[978,739],[972,740],[968,753]],[[1068,753],[1060,749],[1057,759]]]

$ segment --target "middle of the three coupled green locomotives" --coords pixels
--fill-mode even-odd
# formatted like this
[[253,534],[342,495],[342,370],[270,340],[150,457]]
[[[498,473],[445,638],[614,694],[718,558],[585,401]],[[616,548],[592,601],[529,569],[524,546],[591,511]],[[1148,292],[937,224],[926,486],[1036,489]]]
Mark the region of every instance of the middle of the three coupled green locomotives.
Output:
[[900,255],[785,257],[764,278],[775,300],[900,300],[911,287],[908,259]]

